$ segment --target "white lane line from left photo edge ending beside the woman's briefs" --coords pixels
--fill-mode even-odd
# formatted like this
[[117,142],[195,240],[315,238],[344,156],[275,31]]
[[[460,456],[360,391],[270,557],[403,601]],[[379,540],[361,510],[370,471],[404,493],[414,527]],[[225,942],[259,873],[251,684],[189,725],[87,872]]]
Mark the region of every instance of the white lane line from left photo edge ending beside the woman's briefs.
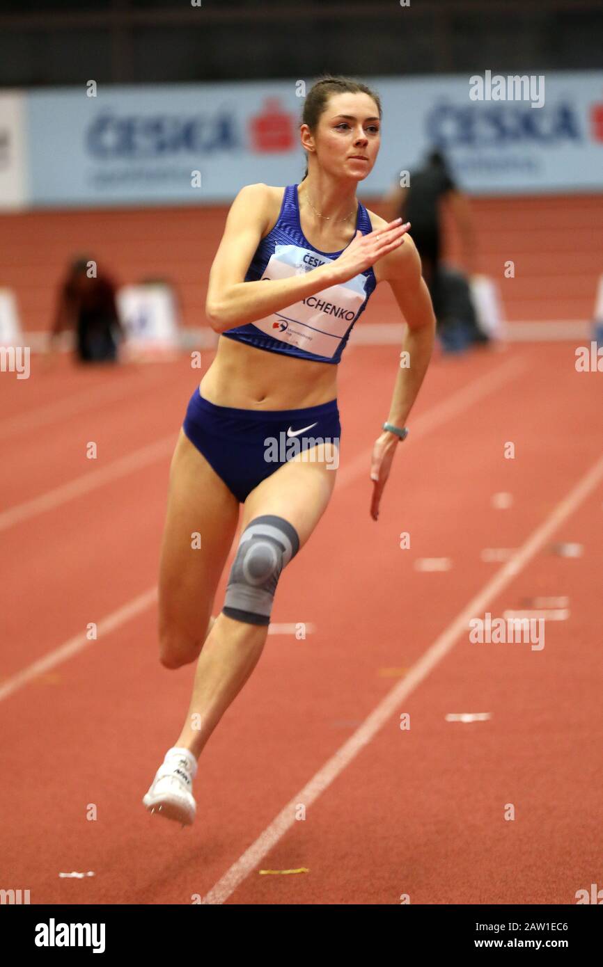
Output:
[[89,493],[91,490],[110,484],[120,477],[126,477],[133,471],[148,466],[149,463],[155,463],[173,451],[177,436],[177,431],[170,433],[169,436],[165,436],[155,443],[140,447],[132,454],[121,456],[118,460],[107,463],[106,467],[100,467],[98,470],[91,469],[88,473],[75,477],[75,480],[68,484],[54,487],[53,490],[48,490],[41,496],[32,498],[32,500],[26,500],[23,504],[15,504],[15,507],[10,507],[8,511],[0,513],[0,531],[6,531],[22,520],[35,517],[38,513],[52,511],[54,508],[60,507],[61,504],[73,500],[74,497],[81,496],[82,493]]

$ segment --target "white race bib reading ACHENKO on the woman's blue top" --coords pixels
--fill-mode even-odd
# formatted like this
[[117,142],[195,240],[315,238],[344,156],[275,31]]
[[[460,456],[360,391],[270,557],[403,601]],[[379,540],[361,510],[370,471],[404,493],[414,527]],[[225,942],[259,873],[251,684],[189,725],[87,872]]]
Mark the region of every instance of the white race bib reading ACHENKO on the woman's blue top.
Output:
[[[303,276],[333,261],[311,249],[278,245],[261,278]],[[365,301],[365,282],[363,276],[354,276],[347,282],[331,285],[301,302],[257,319],[254,326],[281,342],[332,358]]]

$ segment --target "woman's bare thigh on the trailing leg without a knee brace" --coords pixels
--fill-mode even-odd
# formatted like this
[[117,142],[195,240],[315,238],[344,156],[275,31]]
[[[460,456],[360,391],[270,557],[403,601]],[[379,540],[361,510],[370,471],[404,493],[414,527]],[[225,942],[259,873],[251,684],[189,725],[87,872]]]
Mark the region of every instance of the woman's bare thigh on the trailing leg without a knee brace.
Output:
[[203,639],[239,503],[180,430],[169,468],[159,577],[160,636]]

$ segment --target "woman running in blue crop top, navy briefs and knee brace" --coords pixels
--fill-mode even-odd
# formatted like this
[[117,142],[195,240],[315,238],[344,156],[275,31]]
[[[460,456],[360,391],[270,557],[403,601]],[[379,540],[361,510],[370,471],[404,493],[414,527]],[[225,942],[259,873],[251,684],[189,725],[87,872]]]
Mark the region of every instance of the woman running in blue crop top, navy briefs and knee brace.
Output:
[[[196,660],[196,677],[182,731],[143,798],[183,826],[195,818],[198,756],[256,666],[281,572],[333,491],[337,365],[378,282],[389,282],[406,319],[410,365],[397,366],[373,450],[374,520],[431,357],[436,320],[408,224],[356,199],[377,161],[380,121],[365,84],[320,78],[300,127],[303,180],[241,189],[211,268],[206,312],[220,338],[173,454],[159,582],[160,659],[166,668]],[[213,618],[239,504],[240,540]]]

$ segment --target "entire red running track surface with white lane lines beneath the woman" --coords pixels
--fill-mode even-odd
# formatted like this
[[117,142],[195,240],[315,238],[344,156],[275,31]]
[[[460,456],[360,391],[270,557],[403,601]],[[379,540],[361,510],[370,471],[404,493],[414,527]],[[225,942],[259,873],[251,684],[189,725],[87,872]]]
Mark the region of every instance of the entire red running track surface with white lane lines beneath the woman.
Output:
[[[194,674],[159,664],[153,589],[198,370],[34,358],[28,380],[3,373],[0,888],[32,903],[566,904],[599,882],[603,412],[574,351],[437,358],[375,523],[369,456],[398,350],[348,349],[335,493],[272,616],[316,630],[269,635],[199,760],[186,830],[140,799]],[[469,642],[468,617],[537,597],[569,612],[541,650]],[[462,713],[490,718],[445,718]]]

